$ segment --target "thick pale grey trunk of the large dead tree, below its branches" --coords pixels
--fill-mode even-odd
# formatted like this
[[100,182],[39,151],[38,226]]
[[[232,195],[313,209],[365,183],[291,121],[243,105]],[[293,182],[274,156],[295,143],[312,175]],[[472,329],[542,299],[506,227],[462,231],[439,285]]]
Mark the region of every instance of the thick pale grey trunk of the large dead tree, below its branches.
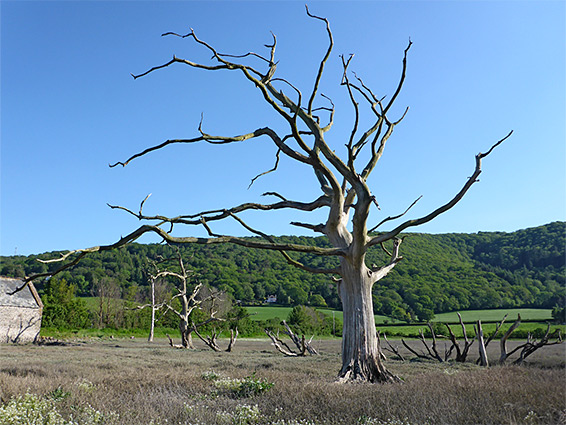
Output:
[[396,382],[399,378],[389,372],[380,359],[373,315],[372,283],[366,271],[369,270],[357,275],[344,274],[339,285],[344,311],[339,380]]

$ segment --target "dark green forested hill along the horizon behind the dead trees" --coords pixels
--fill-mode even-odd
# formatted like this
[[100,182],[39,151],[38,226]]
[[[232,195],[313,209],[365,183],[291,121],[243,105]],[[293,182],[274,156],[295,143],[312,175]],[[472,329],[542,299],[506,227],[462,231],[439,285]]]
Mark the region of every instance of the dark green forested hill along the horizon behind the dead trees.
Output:
[[[396,318],[428,319],[433,312],[464,309],[541,307],[565,302],[566,223],[554,222],[513,233],[407,233],[401,245],[404,260],[374,289],[376,313]],[[327,246],[325,238],[287,236],[280,242]],[[143,297],[148,286],[148,258],[173,255],[171,247],[132,244],[91,255],[61,277],[94,295],[93,287],[111,280],[122,296]],[[277,252],[237,245],[184,246],[187,268],[198,279],[226,290],[246,303],[276,295],[280,304],[339,307],[335,284],[325,275],[312,275],[289,266]],[[0,257],[0,274],[24,276],[47,271],[37,258],[59,253]],[[313,267],[329,267],[336,259],[294,255]],[[383,264],[387,255],[375,248],[368,264]],[[334,263],[336,264],[336,263]],[[51,266],[52,267],[52,266]],[[41,287],[41,283],[38,284]]]

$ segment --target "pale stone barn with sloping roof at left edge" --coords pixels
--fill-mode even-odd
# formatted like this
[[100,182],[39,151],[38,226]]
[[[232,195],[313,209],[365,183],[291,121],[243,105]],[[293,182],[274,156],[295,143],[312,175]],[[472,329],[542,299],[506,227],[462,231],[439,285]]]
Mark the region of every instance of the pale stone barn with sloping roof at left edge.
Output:
[[8,294],[22,284],[21,279],[0,276],[0,343],[34,342],[39,337],[43,303],[33,284]]

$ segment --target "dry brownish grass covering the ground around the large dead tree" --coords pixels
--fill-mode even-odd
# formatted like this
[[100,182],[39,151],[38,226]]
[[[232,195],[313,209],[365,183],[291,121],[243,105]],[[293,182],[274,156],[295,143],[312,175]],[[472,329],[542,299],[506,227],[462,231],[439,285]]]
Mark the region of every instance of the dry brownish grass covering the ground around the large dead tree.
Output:
[[[364,417],[431,425],[566,423],[565,344],[539,350],[522,367],[388,360],[388,368],[404,379],[388,385],[335,383],[340,342],[316,344],[322,355],[304,358],[285,358],[268,340],[239,340],[233,353],[176,350],[163,340],[4,345],[0,399],[59,391],[67,394],[63,410],[89,403],[118,413],[120,424],[226,423],[218,412],[234,412],[242,404],[258,406],[263,418],[258,423],[356,424]],[[490,348],[496,359],[497,347]],[[471,360],[475,357],[474,352]],[[209,370],[231,378],[255,373],[275,385],[238,398],[203,379]]]

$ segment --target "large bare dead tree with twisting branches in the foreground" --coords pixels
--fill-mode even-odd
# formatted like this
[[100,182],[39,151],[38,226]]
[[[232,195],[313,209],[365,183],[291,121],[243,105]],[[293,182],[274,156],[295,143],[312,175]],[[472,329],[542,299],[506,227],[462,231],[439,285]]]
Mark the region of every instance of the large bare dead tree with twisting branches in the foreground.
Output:
[[[275,58],[277,47],[275,35],[272,37],[272,42],[266,45],[268,49],[267,55],[255,52],[243,55],[229,55],[220,53],[215,47],[198,38],[193,30],[187,34],[168,32],[163,35],[180,37],[194,42],[197,47],[204,49],[211,55],[213,62],[198,63],[173,56],[171,60],[161,65],[153,66],[141,74],[133,75],[134,79],[138,79],[174,65],[182,65],[189,69],[201,71],[237,73],[245,82],[250,83],[252,87],[259,90],[263,100],[265,100],[265,105],[281,119],[283,127],[277,124],[271,126],[264,125],[252,129],[245,134],[214,135],[203,130],[201,120],[201,124],[198,127],[199,134],[196,137],[164,141],[112,166],[126,166],[136,158],[172,144],[203,142],[220,145],[264,138],[275,145],[277,160],[271,170],[257,177],[275,172],[279,164],[279,157],[283,154],[313,171],[314,181],[320,186],[321,191],[318,198],[308,202],[300,202],[290,200],[276,192],[268,192],[266,195],[275,197],[275,202],[265,204],[249,202],[232,208],[220,208],[175,217],[146,215],[142,209],[147,198],[142,201],[139,212],[113,205],[111,208],[122,209],[132,214],[136,219],[145,222],[145,224],[111,245],[71,251],[54,261],[63,262],[64,264],[58,271],[64,270],[76,264],[81,258],[91,252],[106,251],[124,246],[146,233],[154,233],[166,242],[173,244],[234,243],[249,248],[279,251],[287,262],[293,266],[313,273],[327,273],[339,276],[337,290],[344,312],[340,381],[398,381],[399,379],[388,372],[380,360],[380,349],[377,344],[373,314],[372,287],[377,281],[385,277],[402,259],[400,255],[401,239],[398,238],[398,235],[409,228],[428,223],[454,207],[474,183],[478,181],[478,177],[482,172],[482,160],[491,154],[495,147],[499,146],[511,133],[493,144],[486,152],[476,155],[475,168],[465,180],[462,188],[446,203],[426,215],[403,221],[393,226],[389,231],[373,233],[383,224],[400,219],[406,215],[420,199],[417,198],[401,214],[370,221],[372,207],[379,207],[379,205],[376,197],[370,190],[368,178],[381,159],[385,145],[395,127],[405,118],[408,111],[407,108],[400,117],[391,116],[391,111],[394,110],[393,105],[405,82],[407,55],[412,43],[409,41],[404,51],[399,83],[394,89],[393,95],[387,101],[385,101],[385,97],[378,96],[356,74],[350,73],[350,64],[353,56],[341,57],[343,74],[340,84],[345,89],[354,112],[351,132],[349,136],[345,137],[345,140],[339,142],[340,146],[345,146],[345,151],[341,155],[340,151],[337,150],[340,146],[331,146],[326,137],[334,122],[334,103],[319,92],[325,65],[331,56],[334,46],[333,34],[327,19],[311,14],[308,8],[306,13],[313,20],[323,24],[328,37],[328,45],[320,60],[318,72],[311,86],[312,89],[306,95],[303,95],[299,88],[288,80],[276,77],[278,60]],[[263,65],[264,68],[255,65],[254,61]],[[189,78],[194,80],[195,76],[190,75]],[[321,104],[321,102],[325,103]],[[361,128],[363,120],[360,119],[360,104],[364,104],[367,107],[371,120],[364,128]],[[257,177],[252,179],[251,183]],[[291,224],[325,235],[331,247],[323,248],[276,242],[269,235],[256,230],[250,224],[244,222],[239,215],[250,210],[273,211],[292,209],[315,211],[321,208],[327,210],[323,223],[292,222]],[[350,217],[351,225],[349,223]],[[264,241],[257,238],[248,239],[215,233],[211,225],[222,219],[236,220],[253,235],[263,237]],[[374,222],[378,223],[373,225]],[[173,227],[177,229],[181,225],[203,226],[208,232],[208,237],[174,236],[171,233],[171,229]],[[385,249],[386,243],[390,244],[388,249]],[[387,260],[381,266],[368,266],[366,264],[366,253],[369,249],[380,246],[388,253]],[[338,261],[336,266],[328,269],[318,269],[299,262],[289,254],[293,252],[329,256],[337,258]],[[45,274],[29,277],[28,280],[41,276],[45,276]]]

